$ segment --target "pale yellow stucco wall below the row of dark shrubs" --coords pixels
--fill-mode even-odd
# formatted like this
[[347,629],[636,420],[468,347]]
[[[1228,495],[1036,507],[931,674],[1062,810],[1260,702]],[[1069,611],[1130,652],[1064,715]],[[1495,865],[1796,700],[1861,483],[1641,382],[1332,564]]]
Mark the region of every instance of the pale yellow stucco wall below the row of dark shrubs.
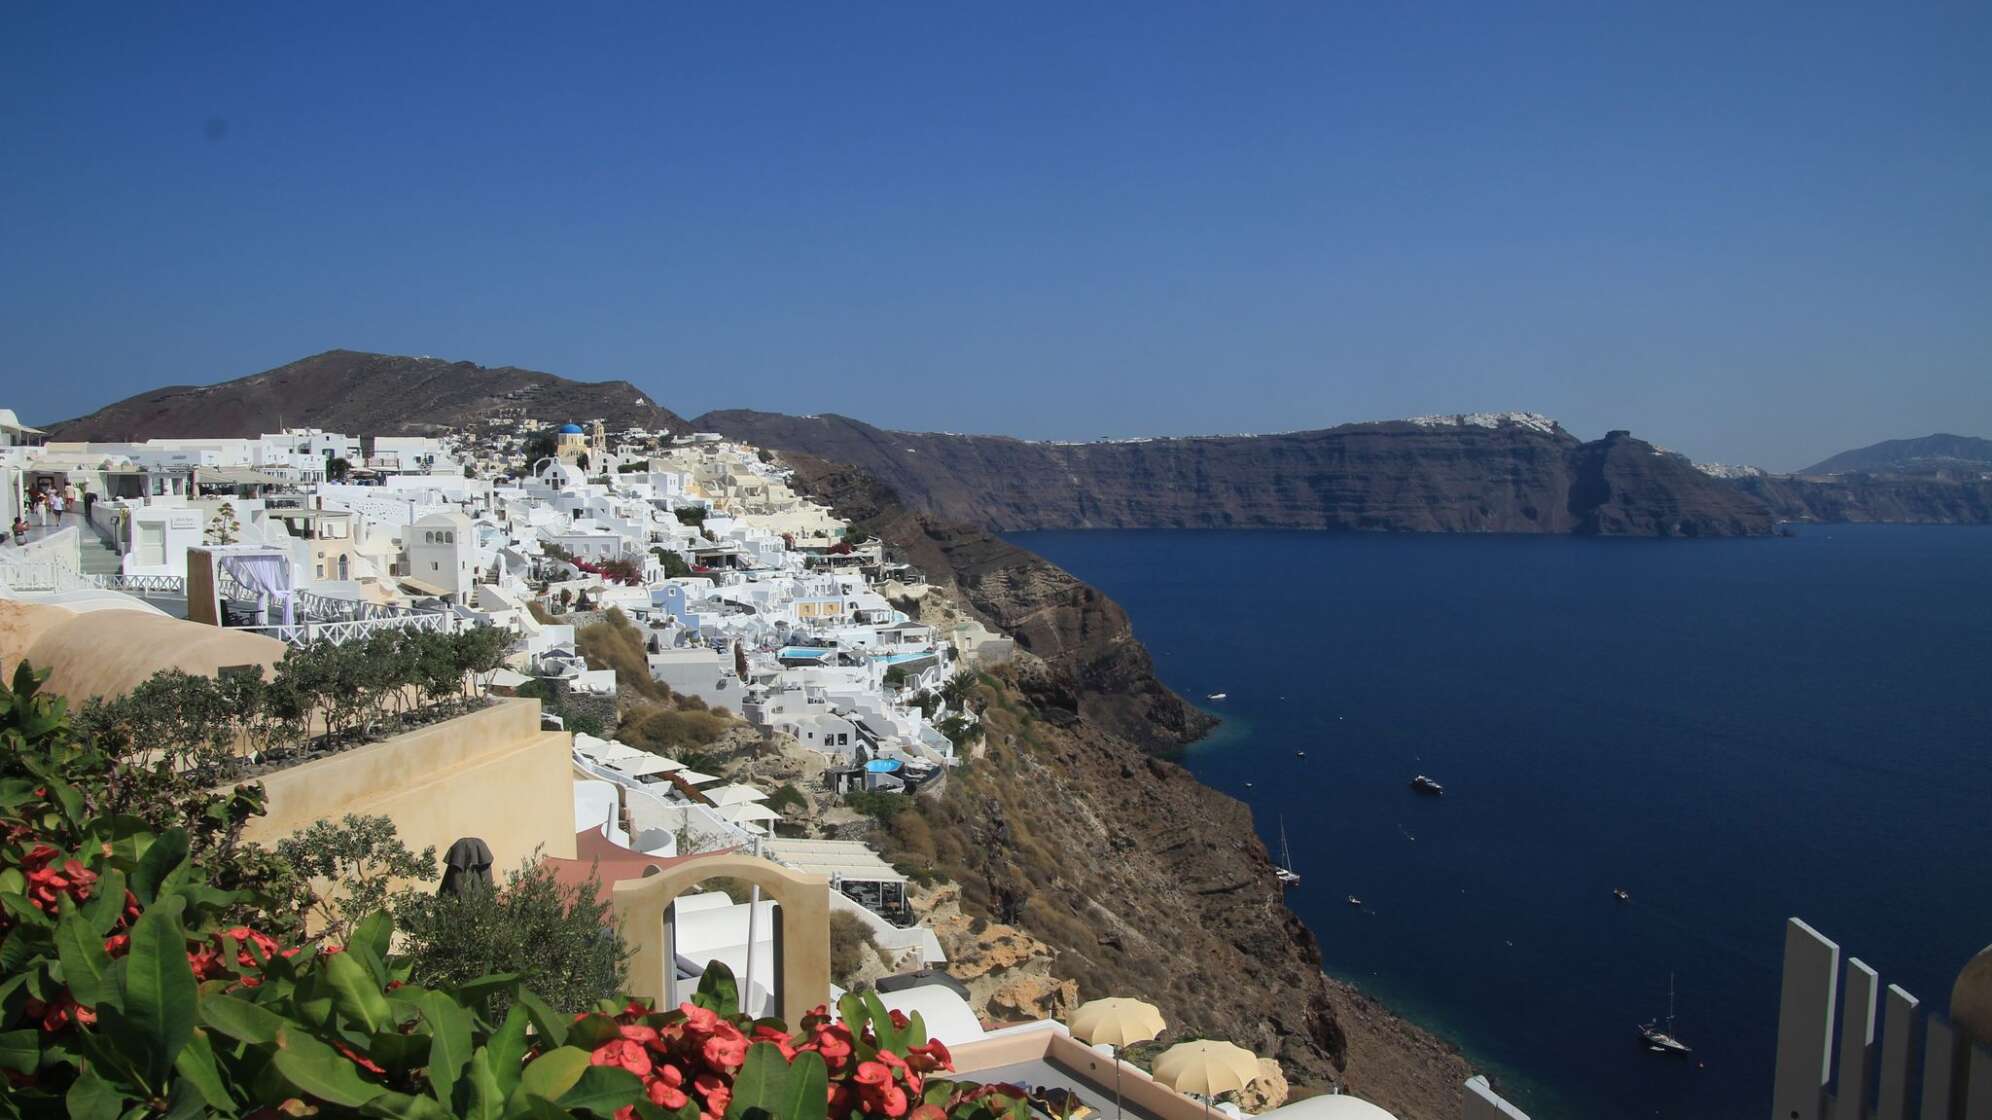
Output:
[[574,859],[572,737],[540,729],[538,700],[500,700],[444,723],[369,743],[269,777],[269,813],[247,839],[271,843],[313,821],[347,813],[394,821],[402,843],[478,837],[492,849],[492,875],[544,851]]

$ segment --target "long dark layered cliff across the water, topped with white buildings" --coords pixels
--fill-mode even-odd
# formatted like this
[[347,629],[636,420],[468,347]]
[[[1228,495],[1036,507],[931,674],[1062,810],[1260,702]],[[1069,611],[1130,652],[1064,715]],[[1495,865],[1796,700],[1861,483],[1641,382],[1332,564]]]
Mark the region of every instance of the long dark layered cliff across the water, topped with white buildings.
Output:
[[946,522],[1030,528],[1355,528],[1735,536],[1749,494],[1627,432],[1584,442],[1526,415],[1273,436],[1058,444],[892,432],[845,417],[709,413],[703,430],[851,462]]

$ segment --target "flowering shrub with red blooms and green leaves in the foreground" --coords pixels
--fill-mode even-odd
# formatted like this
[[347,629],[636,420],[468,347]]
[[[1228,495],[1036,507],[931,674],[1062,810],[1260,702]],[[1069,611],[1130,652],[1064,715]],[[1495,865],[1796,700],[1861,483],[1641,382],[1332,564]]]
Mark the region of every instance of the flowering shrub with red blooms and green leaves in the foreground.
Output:
[[713,965],[675,1010],[568,1016],[512,975],[408,982],[386,913],[345,945],[239,921],[255,887],[219,887],[185,829],[104,813],[118,763],[36,686],[0,690],[0,1116],[1024,1116],[940,1076],[946,1048],[876,996],[791,1030]]

